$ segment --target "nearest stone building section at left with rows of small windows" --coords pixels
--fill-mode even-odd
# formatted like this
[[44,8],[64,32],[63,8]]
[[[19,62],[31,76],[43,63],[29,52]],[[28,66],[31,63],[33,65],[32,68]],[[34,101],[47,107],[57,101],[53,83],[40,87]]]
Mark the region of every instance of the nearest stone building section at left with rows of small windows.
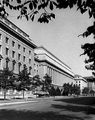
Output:
[[8,19],[0,17],[0,69],[9,67],[18,74],[26,65],[30,76],[33,76],[35,48],[28,34]]

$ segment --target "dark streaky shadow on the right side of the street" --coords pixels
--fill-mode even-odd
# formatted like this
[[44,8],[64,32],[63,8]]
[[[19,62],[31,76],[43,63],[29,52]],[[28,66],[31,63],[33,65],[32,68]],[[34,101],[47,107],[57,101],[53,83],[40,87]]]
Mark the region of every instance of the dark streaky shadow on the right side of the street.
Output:
[[[84,112],[87,115],[95,115],[95,97],[78,97],[69,99],[58,99],[67,104],[52,104],[52,107],[62,111]],[[69,104],[68,104],[69,103]]]

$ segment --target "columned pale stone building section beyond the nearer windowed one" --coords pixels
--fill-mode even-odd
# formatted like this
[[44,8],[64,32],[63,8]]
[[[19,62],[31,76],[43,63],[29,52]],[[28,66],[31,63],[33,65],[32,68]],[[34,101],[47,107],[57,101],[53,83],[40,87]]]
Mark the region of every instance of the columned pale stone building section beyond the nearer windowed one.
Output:
[[63,83],[74,83],[74,73],[71,68],[59,60],[56,56],[50,53],[43,46],[37,47],[34,50],[35,75],[39,74],[43,79],[45,74],[52,78],[52,84],[55,86],[63,86]]

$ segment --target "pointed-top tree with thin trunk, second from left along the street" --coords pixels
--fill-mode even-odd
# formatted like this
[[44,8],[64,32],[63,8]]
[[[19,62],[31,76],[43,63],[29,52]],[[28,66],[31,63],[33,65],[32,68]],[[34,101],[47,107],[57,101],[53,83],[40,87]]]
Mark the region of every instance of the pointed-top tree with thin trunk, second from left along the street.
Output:
[[24,91],[28,90],[28,87],[31,85],[31,79],[29,78],[29,73],[26,65],[24,65],[23,70],[19,72],[17,82],[19,82],[17,86],[17,90],[23,91],[23,98],[24,98]]

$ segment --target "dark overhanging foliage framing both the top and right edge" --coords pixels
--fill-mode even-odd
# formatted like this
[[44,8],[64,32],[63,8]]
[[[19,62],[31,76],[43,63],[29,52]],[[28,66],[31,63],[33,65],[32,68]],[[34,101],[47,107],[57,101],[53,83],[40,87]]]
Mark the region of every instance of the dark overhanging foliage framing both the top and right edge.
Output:
[[[83,37],[88,37],[93,34],[95,39],[95,0],[1,0],[0,1],[0,15],[6,17],[9,15],[7,8],[10,10],[17,10],[20,14],[17,19],[25,17],[27,20],[34,20],[38,15],[38,22],[48,23],[52,18],[55,19],[54,9],[67,9],[73,8],[81,12],[87,12],[89,18],[93,18],[93,25],[88,26],[86,31],[81,34]],[[49,11],[49,12],[48,12]],[[79,35],[80,36],[80,35]],[[81,46],[84,50],[82,55],[87,55],[88,59],[85,60],[86,69],[95,71],[95,43],[86,43]],[[95,75],[95,72],[93,72]]]

